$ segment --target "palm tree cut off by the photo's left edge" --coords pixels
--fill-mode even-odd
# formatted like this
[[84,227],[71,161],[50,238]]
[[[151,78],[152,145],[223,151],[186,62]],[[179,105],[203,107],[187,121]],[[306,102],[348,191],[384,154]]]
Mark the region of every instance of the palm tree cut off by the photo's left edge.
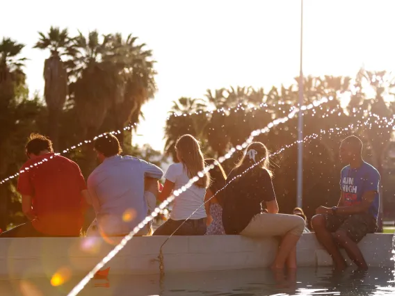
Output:
[[[0,179],[18,170],[26,161],[21,147],[33,129],[38,110],[37,101],[27,99],[29,90],[22,69],[26,58],[20,58],[23,48],[24,44],[10,38],[0,41]],[[1,229],[6,229],[10,222],[11,201],[15,198],[13,186],[15,183],[0,186]]]

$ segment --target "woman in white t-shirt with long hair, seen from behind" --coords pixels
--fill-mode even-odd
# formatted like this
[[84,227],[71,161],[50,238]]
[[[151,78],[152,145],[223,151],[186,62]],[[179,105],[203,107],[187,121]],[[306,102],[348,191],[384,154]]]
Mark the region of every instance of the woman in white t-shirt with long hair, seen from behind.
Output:
[[[173,190],[178,190],[204,169],[204,158],[200,142],[192,135],[183,135],[175,145],[179,163],[170,165],[165,174],[165,185],[159,194],[163,202]],[[210,176],[203,174],[193,185],[175,197],[170,219],[163,223],[154,236],[170,236],[174,231],[178,236],[202,236],[206,233],[206,211],[204,195],[209,186]],[[195,213],[194,213],[195,212]]]

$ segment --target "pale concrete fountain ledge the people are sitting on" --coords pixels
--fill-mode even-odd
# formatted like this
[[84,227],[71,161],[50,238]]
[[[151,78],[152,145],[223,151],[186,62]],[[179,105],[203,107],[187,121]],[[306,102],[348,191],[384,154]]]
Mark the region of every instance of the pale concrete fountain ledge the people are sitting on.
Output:
[[[158,274],[164,236],[133,238],[109,263],[111,274]],[[372,267],[393,267],[392,234],[369,234],[360,242]],[[85,274],[111,251],[101,238],[1,238],[0,278],[51,277],[61,268]],[[163,247],[165,271],[198,272],[268,266],[275,256],[275,238],[242,236],[174,236]],[[332,259],[305,233],[298,242],[299,266],[328,266]]]

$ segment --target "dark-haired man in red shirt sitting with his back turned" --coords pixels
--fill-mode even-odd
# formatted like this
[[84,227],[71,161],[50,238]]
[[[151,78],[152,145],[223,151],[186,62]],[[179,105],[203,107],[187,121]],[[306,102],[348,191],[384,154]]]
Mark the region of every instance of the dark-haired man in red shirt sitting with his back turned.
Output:
[[52,142],[32,134],[26,145],[29,161],[19,172],[17,190],[30,222],[0,234],[1,238],[79,236],[83,212],[90,204],[79,166],[55,155]]

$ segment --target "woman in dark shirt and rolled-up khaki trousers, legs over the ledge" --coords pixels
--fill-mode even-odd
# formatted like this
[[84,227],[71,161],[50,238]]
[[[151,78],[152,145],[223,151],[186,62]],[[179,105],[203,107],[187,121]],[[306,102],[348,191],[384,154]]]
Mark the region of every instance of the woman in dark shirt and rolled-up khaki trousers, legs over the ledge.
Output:
[[[280,248],[271,268],[296,268],[296,243],[305,221],[296,215],[278,214],[278,205],[269,170],[268,149],[253,142],[245,156],[227,177],[223,202],[223,227],[227,234],[281,236]],[[262,209],[265,202],[267,213]]]

